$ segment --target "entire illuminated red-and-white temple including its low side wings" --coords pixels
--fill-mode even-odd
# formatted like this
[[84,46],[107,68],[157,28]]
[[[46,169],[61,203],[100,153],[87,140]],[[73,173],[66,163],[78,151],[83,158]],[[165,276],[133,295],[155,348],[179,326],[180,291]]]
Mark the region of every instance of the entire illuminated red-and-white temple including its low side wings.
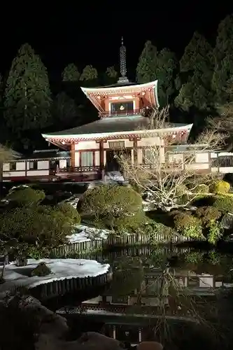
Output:
[[[98,120],[69,130],[43,134],[48,145],[58,148],[34,151],[27,158],[3,164],[3,181],[85,181],[109,179],[118,172],[118,157],[124,153],[132,165],[148,166],[150,146],[160,147],[165,154],[164,138],[171,139],[169,162],[185,159],[188,148],[196,145],[187,140],[192,124],[169,124],[155,129],[151,111],[159,109],[157,80],[150,83],[130,83],[127,78],[126,49],[120,47],[120,78],[105,87],[81,87],[87,99],[97,109]],[[169,150],[170,152],[170,150]],[[193,151],[192,151],[193,152]],[[193,167],[204,172],[233,172],[233,153],[195,151]],[[123,179],[124,180],[124,179]]]

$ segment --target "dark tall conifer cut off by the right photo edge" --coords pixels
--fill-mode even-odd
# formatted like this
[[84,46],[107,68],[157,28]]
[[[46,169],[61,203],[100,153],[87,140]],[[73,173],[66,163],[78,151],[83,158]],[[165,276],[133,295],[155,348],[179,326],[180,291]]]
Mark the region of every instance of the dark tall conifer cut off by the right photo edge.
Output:
[[215,66],[212,87],[216,102],[226,104],[232,99],[233,85],[233,14],[228,15],[218,26],[214,49]]

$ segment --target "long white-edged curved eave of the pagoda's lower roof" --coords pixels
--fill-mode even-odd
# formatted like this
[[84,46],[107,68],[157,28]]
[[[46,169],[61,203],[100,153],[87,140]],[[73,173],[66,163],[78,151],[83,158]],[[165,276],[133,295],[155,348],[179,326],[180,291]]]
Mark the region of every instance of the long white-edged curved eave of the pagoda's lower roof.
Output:
[[[69,134],[69,135],[62,135],[62,134],[42,134],[42,137],[46,140],[46,141],[50,141],[50,140],[62,140],[62,139],[66,139],[66,140],[71,140],[73,141],[74,139],[80,139],[80,140],[90,140],[90,139],[104,139],[104,138],[108,138],[108,137],[125,137],[125,135],[145,135],[146,136],[150,136],[150,135],[154,135],[154,134],[162,134],[162,133],[166,133],[166,134],[173,134],[176,132],[181,132],[181,131],[185,131],[187,134],[190,133],[190,130],[192,129],[192,124],[188,124],[188,125],[181,125],[179,127],[166,127],[164,129],[154,129],[154,130],[132,130],[132,131],[124,131],[124,132],[105,132],[105,133],[99,133],[99,134]],[[52,142],[53,143],[53,142]]]

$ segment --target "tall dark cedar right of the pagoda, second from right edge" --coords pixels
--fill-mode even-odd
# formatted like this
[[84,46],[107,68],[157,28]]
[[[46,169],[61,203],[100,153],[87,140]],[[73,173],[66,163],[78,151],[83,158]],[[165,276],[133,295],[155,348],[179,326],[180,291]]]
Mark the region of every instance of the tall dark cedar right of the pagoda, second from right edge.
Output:
[[213,104],[213,66],[213,48],[204,36],[195,32],[181,57],[183,84],[175,100],[176,106],[188,111],[192,106],[204,110]]

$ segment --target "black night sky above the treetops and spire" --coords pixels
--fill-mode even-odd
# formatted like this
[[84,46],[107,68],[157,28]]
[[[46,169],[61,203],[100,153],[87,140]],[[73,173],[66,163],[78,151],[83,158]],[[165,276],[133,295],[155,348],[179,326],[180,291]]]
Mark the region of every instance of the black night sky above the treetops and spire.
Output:
[[220,20],[233,13],[231,1],[161,2],[112,0],[106,2],[108,6],[93,7],[92,1],[87,1],[79,7],[79,1],[67,1],[73,6],[64,1],[52,1],[52,6],[47,1],[48,6],[41,7],[43,1],[33,1],[33,7],[15,8],[6,18],[1,11],[0,71],[10,67],[17,49],[25,42],[41,55],[50,74],[60,74],[69,62],[80,69],[86,64],[104,69],[118,64],[121,36],[127,47],[128,69],[134,71],[146,40],[159,49],[169,47],[182,55],[195,30],[213,41]]

